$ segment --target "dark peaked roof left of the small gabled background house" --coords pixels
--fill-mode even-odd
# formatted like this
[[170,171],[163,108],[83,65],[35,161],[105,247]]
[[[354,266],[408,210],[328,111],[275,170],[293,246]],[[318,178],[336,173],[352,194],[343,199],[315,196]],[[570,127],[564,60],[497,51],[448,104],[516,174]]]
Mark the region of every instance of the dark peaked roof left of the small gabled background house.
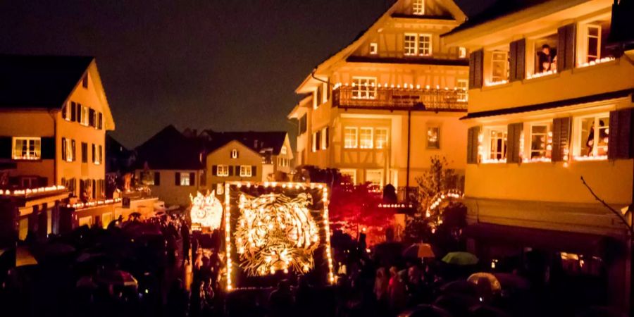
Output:
[[204,144],[197,138],[182,135],[173,125],[168,125],[136,148],[135,168],[145,163],[155,170],[199,170],[204,168],[201,153]]

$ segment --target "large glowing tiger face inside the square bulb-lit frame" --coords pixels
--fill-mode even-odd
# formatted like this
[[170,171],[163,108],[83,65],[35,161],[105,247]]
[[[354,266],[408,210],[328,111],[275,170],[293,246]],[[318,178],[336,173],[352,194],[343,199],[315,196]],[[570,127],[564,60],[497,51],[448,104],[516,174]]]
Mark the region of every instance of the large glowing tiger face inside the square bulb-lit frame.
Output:
[[240,266],[251,276],[307,272],[313,268],[313,252],[319,244],[319,230],[308,206],[310,194],[291,199],[285,194],[257,198],[240,195],[235,242]]

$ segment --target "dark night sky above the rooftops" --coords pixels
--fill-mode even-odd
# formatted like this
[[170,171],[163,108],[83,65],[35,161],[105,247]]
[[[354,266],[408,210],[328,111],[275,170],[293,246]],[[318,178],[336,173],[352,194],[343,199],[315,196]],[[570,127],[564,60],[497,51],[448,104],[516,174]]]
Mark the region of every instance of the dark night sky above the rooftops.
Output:
[[[386,0],[0,1],[0,52],[97,57],[135,147],[165,125],[294,130],[294,89]],[[473,13],[490,0],[457,1]]]

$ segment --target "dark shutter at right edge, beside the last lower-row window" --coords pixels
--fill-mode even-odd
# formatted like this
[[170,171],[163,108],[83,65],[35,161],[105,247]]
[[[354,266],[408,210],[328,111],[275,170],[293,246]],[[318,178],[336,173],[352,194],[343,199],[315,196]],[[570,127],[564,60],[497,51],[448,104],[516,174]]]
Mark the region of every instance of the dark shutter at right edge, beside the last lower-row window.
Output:
[[632,108],[610,111],[609,159],[631,159],[633,157],[632,118]]

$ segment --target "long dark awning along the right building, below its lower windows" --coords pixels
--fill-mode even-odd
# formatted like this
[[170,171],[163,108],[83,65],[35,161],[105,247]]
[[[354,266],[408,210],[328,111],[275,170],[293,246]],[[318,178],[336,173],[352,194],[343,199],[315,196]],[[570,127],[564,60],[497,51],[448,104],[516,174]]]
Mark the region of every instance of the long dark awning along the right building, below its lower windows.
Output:
[[610,237],[578,232],[542,230],[510,225],[477,223],[464,230],[467,237],[493,245],[531,247],[554,252],[569,252],[603,257],[609,247],[614,249]]

